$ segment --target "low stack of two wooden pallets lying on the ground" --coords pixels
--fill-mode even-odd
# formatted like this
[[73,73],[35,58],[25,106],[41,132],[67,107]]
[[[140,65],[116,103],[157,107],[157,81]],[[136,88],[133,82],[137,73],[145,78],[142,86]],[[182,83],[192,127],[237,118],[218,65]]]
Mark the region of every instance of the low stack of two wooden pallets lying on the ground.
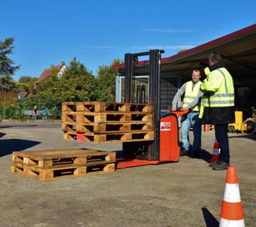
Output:
[[116,153],[96,150],[41,150],[13,152],[12,173],[41,181],[115,172]]

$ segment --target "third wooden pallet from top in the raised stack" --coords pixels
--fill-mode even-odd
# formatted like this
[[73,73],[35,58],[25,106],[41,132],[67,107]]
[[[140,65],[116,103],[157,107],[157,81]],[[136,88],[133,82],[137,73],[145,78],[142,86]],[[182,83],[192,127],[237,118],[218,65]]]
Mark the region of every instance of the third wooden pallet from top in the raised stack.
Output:
[[133,122],[133,123],[77,123],[62,122],[63,131],[78,131],[84,133],[122,133],[136,131],[152,131],[154,130],[151,122]]

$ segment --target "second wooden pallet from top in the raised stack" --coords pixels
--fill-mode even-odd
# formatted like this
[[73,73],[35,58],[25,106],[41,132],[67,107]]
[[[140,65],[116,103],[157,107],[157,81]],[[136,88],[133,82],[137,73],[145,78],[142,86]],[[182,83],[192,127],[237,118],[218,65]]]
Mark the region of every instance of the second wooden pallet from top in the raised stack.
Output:
[[90,113],[90,112],[62,112],[62,121],[65,122],[152,122],[152,114],[143,112],[113,112],[113,113]]

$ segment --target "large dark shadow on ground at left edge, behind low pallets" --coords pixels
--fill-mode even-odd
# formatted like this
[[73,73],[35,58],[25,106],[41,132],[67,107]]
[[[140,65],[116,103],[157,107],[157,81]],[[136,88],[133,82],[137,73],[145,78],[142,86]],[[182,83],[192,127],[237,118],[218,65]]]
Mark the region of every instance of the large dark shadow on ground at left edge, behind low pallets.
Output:
[[19,152],[30,147],[41,144],[38,141],[28,141],[26,139],[1,139],[0,157],[10,155],[12,152]]

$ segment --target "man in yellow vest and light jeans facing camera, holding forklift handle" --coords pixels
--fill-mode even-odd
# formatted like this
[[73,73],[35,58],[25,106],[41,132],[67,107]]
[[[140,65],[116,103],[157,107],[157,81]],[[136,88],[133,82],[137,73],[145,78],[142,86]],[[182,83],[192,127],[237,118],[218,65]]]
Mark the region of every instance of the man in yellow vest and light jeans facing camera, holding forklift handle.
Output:
[[[177,102],[183,96],[183,109],[190,109],[188,114],[182,116],[181,119],[181,137],[182,137],[182,150],[180,156],[190,155],[191,158],[199,158],[201,150],[201,131],[202,123],[198,118],[201,106],[201,97],[203,93],[200,91],[201,73],[198,69],[194,69],[191,74],[192,79],[184,83],[172,100],[172,111],[176,110]],[[193,126],[194,141],[193,146],[190,146],[189,131]]]

